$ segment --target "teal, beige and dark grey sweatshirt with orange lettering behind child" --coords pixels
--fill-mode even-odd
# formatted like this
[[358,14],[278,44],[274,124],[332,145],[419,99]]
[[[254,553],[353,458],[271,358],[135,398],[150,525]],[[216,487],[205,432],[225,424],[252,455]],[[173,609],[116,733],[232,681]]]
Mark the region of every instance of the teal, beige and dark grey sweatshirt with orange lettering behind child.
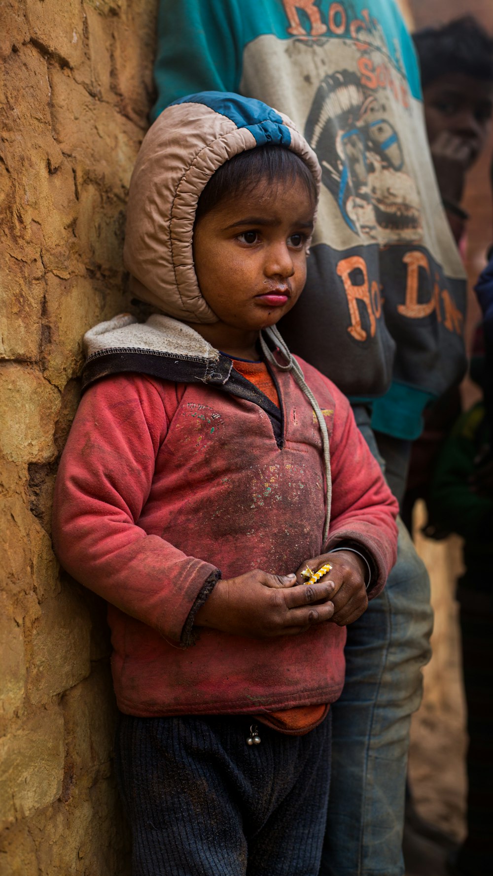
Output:
[[[161,0],[159,99],[256,97],[322,168],[308,280],[280,329],[374,426],[415,438],[461,378],[465,281],[425,134],[418,67],[393,0]],[[383,396],[382,398],[379,398]]]

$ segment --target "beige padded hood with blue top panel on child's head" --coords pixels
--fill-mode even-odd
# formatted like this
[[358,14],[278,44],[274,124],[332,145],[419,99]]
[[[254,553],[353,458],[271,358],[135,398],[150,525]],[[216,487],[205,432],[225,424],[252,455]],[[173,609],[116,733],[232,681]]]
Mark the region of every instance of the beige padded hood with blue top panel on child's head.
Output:
[[219,166],[265,144],[296,152],[319,190],[315,152],[287,116],[261,101],[206,91],[156,119],[137,156],[127,207],[124,261],[137,298],[178,320],[217,321],[196,280],[196,204]]

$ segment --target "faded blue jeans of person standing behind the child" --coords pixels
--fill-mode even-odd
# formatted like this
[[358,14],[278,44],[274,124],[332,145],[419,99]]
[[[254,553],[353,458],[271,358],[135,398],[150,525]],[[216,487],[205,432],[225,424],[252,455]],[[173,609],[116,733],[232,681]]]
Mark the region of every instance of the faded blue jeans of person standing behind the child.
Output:
[[[367,409],[355,407],[354,416],[384,470]],[[405,473],[409,449],[403,449]],[[392,480],[400,491],[397,457]],[[409,728],[430,658],[432,609],[425,565],[400,519],[398,526],[397,563],[385,589],[347,627],[346,682],[331,709],[332,784],[320,876],[404,876]]]

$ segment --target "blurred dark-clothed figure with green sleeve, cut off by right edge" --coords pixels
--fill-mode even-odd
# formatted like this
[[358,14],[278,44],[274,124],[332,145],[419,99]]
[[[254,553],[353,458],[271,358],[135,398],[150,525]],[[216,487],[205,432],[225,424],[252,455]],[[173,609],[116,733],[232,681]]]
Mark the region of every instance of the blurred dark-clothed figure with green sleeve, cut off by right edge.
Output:
[[[470,376],[486,376],[483,330],[478,330]],[[439,454],[430,491],[433,519],[464,539],[466,571],[459,579],[462,662],[468,704],[468,837],[449,861],[454,876],[493,872],[493,484],[478,479],[491,428],[484,400],[462,414]]]

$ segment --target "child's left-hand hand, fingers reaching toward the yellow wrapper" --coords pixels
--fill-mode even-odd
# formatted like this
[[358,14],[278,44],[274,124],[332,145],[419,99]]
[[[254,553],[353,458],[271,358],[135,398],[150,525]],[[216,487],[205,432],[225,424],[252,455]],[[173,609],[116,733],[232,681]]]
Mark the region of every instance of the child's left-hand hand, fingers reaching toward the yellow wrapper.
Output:
[[196,612],[195,625],[251,639],[292,636],[332,618],[330,593],[325,580],[299,587],[296,575],[269,575],[257,569],[218,581]]

